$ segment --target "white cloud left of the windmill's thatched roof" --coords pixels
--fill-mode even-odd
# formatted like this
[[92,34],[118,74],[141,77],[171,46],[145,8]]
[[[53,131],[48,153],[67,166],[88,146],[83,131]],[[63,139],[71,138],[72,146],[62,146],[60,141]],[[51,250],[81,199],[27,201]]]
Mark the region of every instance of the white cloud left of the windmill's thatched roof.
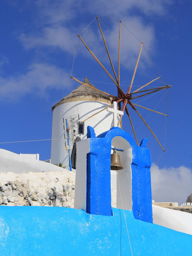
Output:
[[43,95],[45,90],[66,88],[70,74],[54,65],[35,63],[25,74],[0,77],[1,100],[14,100],[27,93]]

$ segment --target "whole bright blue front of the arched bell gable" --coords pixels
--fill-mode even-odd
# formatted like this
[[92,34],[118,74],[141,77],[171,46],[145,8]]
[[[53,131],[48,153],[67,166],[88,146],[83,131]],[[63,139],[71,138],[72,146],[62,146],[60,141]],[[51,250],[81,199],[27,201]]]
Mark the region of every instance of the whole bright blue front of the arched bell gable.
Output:
[[112,140],[117,136],[127,140],[132,148],[131,181],[134,218],[152,223],[151,156],[149,149],[146,149],[148,139],[142,140],[140,146],[137,146],[131,135],[118,127],[113,127],[97,137],[94,129],[91,126],[87,127],[90,152],[86,159],[86,212],[113,215],[110,162]]

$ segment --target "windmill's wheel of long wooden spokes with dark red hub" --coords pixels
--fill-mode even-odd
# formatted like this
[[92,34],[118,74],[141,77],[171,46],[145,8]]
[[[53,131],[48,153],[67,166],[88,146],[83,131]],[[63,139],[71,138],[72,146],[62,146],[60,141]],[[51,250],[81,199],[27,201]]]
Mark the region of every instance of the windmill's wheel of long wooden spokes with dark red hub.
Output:
[[[113,70],[113,75],[114,77],[108,72],[108,70],[104,67],[104,65],[99,61],[99,59],[95,56],[95,54],[90,50],[90,48],[88,47],[88,45],[85,43],[85,41],[82,39],[82,37],[78,34],[78,38],[82,41],[82,43],[84,44],[84,46],[87,48],[87,50],[89,51],[89,53],[95,58],[95,60],[99,63],[99,65],[101,65],[101,67],[104,69],[104,71],[108,74],[108,76],[110,77],[110,79],[113,81],[113,83],[116,85],[117,87],[117,96],[115,95],[111,95],[107,92],[103,92],[99,89],[96,89],[97,91],[100,91],[108,96],[110,96],[112,98],[112,102],[117,102],[118,103],[118,109],[119,110],[122,110],[123,112],[125,111],[125,113],[128,115],[128,119],[131,123],[131,127],[132,127],[132,130],[133,130],[133,133],[134,133],[134,137],[135,137],[135,140],[136,140],[136,143],[137,145],[139,146],[139,143],[138,143],[138,140],[137,140],[137,136],[136,136],[136,132],[135,132],[135,129],[134,129],[134,126],[133,126],[133,123],[131,121],[131,116],[130,116],[130,113],[128,111],[128,106],[131,107],[136,113],[137,115],[140,117],[140,119],[142,120],[142,122],[147,126],[147,128],[149,129],[149,131],[152,133],[152,135],[155,137],[155,139],[157,140],[158,144],[161,146],[163,152],[165,152],[165,148],[164,146],[162,146],[162,144],[159,142],[157,136],[155,135],[155,133],[152,131],[152,129],[149,127],[149,125],[147,124],[146,120],[141,116],[141,114],[139,113],[139,111],[137,110],[136,107],[140,107],[140,108],[143,108],[143,109],[146,109],[146,110],[149,110],[149,111],[152,111],[152,112],[155,112],[155,113],[158,113],[158,114],[161,114],[161,115],[164,115],[164,116],[167,116],[167,114],[165,113],[161,113],[161,112],[158,112],[156,110],[152,110],[150,108],[147,108],[147,107],[144,107],[144,106],[141,106],[141,105],[138,105],[138,104],[135,104],[133,103],[132,100],[134,99],[137,99],[137,98],[141,98],[141,97],[144,97],[146,95],[150,95],[150,94],[153,94],[153,93],[156,93],[156,92],[159,92],[161,90],[164,90],[164,89],[169,89],[171,87],[171,85],[165,85],[165,86],[160,86],[160,87],[155,87],[155,88],[152,88],[152,89],[144,89],[146,86],[148,86],[149,84],[153,83],[154,81],[158,80],[161,78],[161,76],[158,76],[156,77],[155,79],[149,81],[148,83],[140,86],[137,90],[134,90],[132,91],[132,86],[133,86],[133,82],[134,82],[134,78],[135,78],[135,75],[136,75],[136,71],[137,71],[137,66],[138,66],[138,63],[139,63],[139,60],[140,60],[140,55],[141,55],[141,52],[142,52],[142,49],[143,49],[143,42],[141,42],[141,48],[140,48],[140,52],[139,52],[139,55],[138,55],[138,58],[137,58],[137,62],[136,62],[136,65],[135,65],[135,68],[134,68],[134,72],[133,72],[133,75],[132,75],[132,79],[131,79],[131,83],[130,85],[128,86],[128,90],[127,92],[124,92],[120,86],[120,44],[121,44],[121,26],[122,26],[122,21],[120,20],[120,26],[119,26],[119,54],[118,54],[118,74],[116,74],[116,71],[114,69],[114,66],[113,66],[113,63],[112,63],[112,60],[111,60],[111,57],[110,57],[110,54],[109,54],[109,50],[108,50],[108,47],[107,47],[107,44],[106,44],[106,41],[105,41],[105,38],[104,38],[104,34],[103,34],[103,31],[101,29],[101,25],[100,25],[100,22],[99,20],[101,20],[98,16],[95,18],[97,19],[97,22],[98,22],[98,26],[99,26],[99,29],[100,29],[100,32],[101,32],[101,36],[102,36],[102,39],[103,39],[103,42],[104,42],[104,45],[105,45],[105,48],[106,48],[106,52],[107,52],[107,55],[108,55],[108,58],[109,58],[109,61],[110,61],[110,65],[112,67],[112,70]],[[94,21],[94,20],[93,20]],[[93,22],[92,21],[92,22]],[[91,23],[90,23],[91,24]],[[90,25],[89,24],[89,25]],[[88,26],[89,26],[88,25]],[[123,24],[124,25],[124,24]],[[125,25],[124,25],[125,26]],[[144,47],[145,48],[145,47]],[[146,50],[146,49],[145,49]],[[73,63],[74,63],[74,59],[73,59]],[[72,74],[72,72],[71,72]],[[77,82],[83,84],[81,81],[79,81],[77,78],[71,76],[71,79],[73,80],[76,80]],[[87,84],[85,84],[86,86],[88,86]],[[109,106],[108,106],[109,107]],[[105,110],[106,108],[104,108],[103,110]],[[97,113],[100,113],[101,111],[103,110],[100,110],[98,111]],[[96,115],[97,113],[95,113],[94,115]],[[91,118],[93,115],[89,116],[88,118]],[[87,119],[88,119],[87,118]],[[86,119],[86,120],[87,120]],[[118,125],[117,126],[121,126],[122,128],[122,115],[120,116],[119,118],[119,122],[118,122]]]

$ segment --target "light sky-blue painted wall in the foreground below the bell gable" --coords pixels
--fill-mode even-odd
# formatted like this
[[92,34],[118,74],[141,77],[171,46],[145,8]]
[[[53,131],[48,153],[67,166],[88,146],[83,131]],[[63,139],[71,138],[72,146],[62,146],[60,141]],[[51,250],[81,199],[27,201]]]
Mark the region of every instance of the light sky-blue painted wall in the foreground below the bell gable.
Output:
[[[191,255],[192,236],[125,211],[133,255]],[[131,255],[123,210],[91,215],[64,207],[1,206],[0,252],[10,255]]]

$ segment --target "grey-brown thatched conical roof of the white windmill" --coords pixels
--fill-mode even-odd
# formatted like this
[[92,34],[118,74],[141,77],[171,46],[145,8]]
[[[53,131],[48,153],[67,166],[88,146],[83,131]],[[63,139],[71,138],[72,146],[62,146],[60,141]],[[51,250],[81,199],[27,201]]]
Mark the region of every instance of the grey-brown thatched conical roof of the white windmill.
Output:
[[[88,78],[85,77],[85,81],[83,83],[88,84],[89,86],[96,88],[94,85],[92,85]],[[75,90],[73,90],[69,95],[67,95],[65,98],[63,98],[61,101],[59,101],[57,104],[55,104],[52,107],[52,110],[57,107],[58,105],[61,105],[66,102],[70,101],[80,101],[80,100],[91,100],[91,101],[96,101],[96,100],[101,100],[101,101],[110,101],[110,96],[98,92],[85,84],[81,84],[78,86]]]

